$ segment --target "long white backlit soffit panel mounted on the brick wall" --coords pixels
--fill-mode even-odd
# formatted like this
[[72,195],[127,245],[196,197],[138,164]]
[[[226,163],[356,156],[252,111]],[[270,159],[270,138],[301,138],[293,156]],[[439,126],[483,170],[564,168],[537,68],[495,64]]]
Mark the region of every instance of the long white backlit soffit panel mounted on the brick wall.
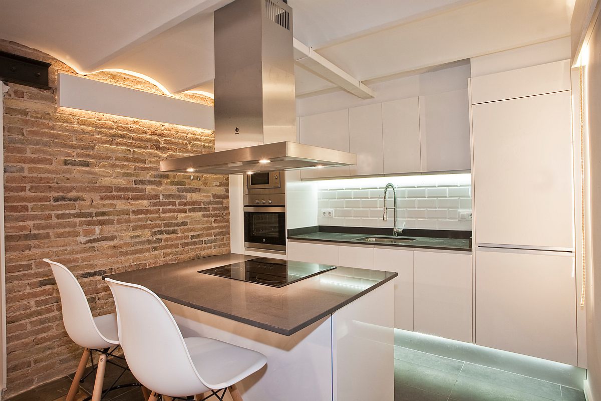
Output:
[[211,106],[65,73],[58,74],[58,106],[215,129]]

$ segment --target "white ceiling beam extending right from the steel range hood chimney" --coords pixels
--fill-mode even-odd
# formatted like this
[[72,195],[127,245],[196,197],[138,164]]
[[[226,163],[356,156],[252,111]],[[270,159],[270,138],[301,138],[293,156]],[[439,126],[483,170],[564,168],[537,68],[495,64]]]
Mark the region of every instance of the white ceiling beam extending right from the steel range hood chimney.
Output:
[[294,38],[294,61],[317,76],[338,85],[361,99],[373,99],[376,96],[374,91],[368,88],[367,85],[353,78],[352,75],[322,55],[317,54],[312,47],[296,38]]

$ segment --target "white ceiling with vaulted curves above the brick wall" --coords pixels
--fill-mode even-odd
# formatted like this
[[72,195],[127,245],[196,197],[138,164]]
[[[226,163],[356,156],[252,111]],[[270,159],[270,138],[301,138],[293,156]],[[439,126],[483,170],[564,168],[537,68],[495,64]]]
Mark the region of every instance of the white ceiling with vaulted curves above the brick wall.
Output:
[[[213,11],[231,0],[1,0],[0,38],[78,72],[212,91]],[[569,34],[573,0],[289,0],[294,37],[362,81]],[[84,5],[85,4],[85,5]],[[296,68],[296,93],[336,85]]]

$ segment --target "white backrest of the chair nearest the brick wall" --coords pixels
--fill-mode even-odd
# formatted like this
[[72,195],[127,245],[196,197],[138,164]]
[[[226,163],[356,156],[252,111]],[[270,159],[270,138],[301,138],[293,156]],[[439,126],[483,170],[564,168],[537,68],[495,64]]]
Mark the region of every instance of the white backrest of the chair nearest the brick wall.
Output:
[[49,259],[44,259],[44,262],[49,263],[50,268],[52,268],[52,274],[61,295],[63,323],[73,342],[84,348],[118,344],[118,342],[110,340],[100,333],[96,323],[94,323],[84,290],[82,290],[73,273],[58,262],[52,262]]

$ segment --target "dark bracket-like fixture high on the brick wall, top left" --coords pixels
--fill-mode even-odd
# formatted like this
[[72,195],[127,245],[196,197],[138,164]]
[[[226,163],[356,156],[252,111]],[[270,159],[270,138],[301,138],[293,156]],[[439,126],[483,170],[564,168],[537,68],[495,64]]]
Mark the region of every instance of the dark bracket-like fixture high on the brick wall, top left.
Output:
[[50,63],[44,61],[0,52],[0,81],[50,89],[48,86],[48,69],[50,66]]

